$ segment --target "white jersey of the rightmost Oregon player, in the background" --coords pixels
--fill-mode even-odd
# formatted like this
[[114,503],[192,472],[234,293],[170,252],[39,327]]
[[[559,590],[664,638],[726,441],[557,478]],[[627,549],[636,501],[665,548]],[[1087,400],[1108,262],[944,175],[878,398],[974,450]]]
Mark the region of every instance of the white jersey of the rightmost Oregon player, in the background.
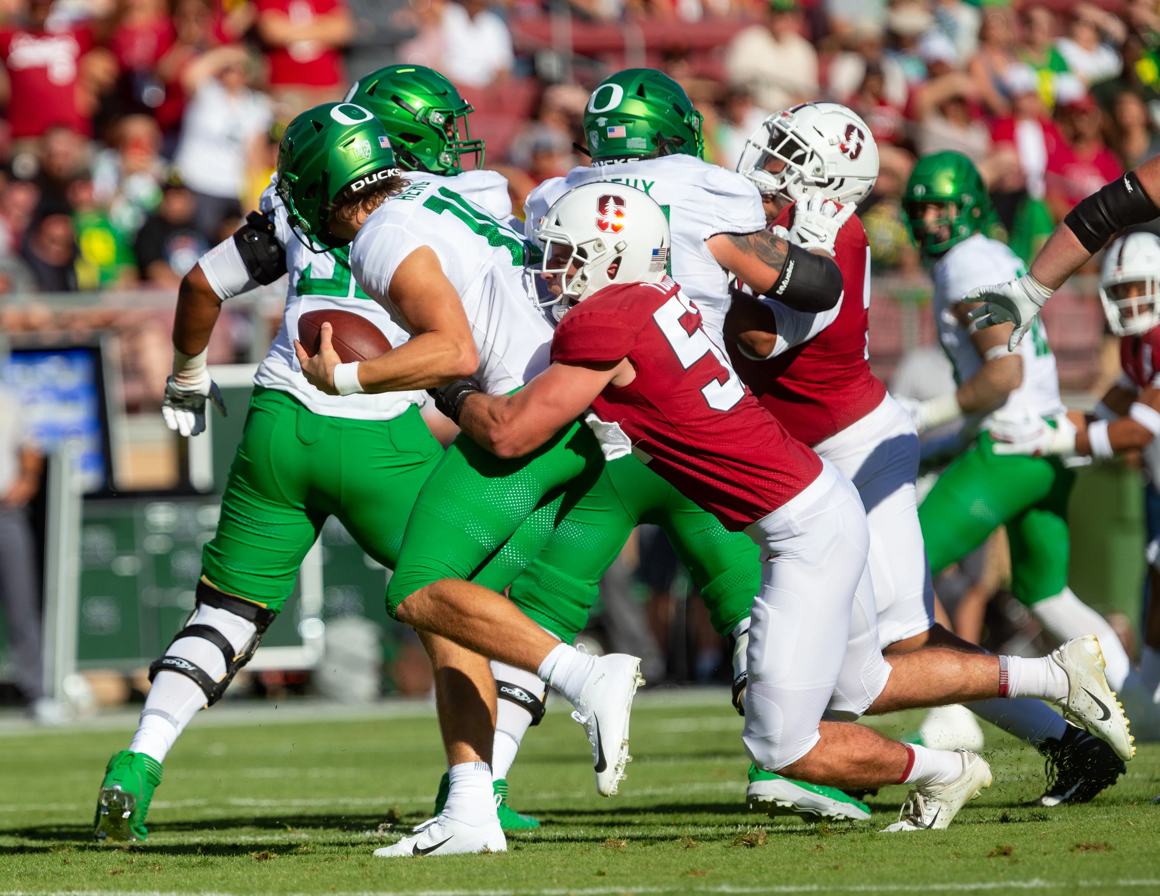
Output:
[[[983,366],[983,358],[971,342],[966,328],[951,313],[951,307],[976,286],[1022,277],[1023,261],[1006,243],[981,233],[970,236],[950,249],[934,267],[934,314],[938,341],[955,367],[955,381],[966,383]],[[1023,383],[1007,396],[1001,411],[1030,413],[1049,417],[1064,413],[1059,399],[1059,373],[1056,356],[1047,344],[1043,319],[1036,318],[1031,332],[1015,349],[1023,357]],[[999,413],[999,411],[996,411]]]

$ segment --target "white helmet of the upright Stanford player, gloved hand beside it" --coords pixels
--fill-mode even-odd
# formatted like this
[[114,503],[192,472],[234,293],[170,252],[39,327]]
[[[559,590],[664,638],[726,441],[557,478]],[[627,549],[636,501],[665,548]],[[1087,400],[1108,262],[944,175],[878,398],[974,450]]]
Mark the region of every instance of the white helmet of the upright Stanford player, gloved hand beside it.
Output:
[[762,194],[792,201],[820,192],[857,203],[878,180],[878,145],[867,123],[841,103],[802,103],[761,123],[737,169]]

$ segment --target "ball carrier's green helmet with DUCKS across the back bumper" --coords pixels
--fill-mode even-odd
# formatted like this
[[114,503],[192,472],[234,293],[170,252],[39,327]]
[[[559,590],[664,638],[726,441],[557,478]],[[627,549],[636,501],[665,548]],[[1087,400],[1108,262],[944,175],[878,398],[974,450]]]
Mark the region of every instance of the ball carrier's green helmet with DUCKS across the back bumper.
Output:
[[354,103],[316,105],[290,122],[278,144],[277,170],[290,226],[311,252],[349,242],[331,233],[335,196],[403,174],[382,122]]

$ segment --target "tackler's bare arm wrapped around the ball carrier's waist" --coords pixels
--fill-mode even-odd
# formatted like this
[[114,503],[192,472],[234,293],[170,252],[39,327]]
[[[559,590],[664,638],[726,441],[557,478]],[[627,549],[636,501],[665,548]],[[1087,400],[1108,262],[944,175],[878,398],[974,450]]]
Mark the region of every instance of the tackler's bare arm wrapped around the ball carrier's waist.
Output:
[[604,386],[628,386],[636,376],[628,358],[552,364],[512,395],[467,395],[459,428],[496,457],[522,457],[579,417]]

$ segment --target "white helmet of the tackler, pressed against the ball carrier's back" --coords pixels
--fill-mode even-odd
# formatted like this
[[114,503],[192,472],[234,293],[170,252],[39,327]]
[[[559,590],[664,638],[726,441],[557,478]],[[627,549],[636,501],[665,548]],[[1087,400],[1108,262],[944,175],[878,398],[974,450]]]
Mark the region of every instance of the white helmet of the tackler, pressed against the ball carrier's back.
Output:
[[[672,238],[661,207],[623,183],[586,183],[564,194],[539,219],[532,239],[544,245],[543,274],[561,274],[564,292],[541,307],[575,303],[614,283],[660,283]],[[568,246],[567,261],[552,265],[552,249]],[[609,265],[619,260],[615,277]],[[578,265],[570,274],[572,264]]]

